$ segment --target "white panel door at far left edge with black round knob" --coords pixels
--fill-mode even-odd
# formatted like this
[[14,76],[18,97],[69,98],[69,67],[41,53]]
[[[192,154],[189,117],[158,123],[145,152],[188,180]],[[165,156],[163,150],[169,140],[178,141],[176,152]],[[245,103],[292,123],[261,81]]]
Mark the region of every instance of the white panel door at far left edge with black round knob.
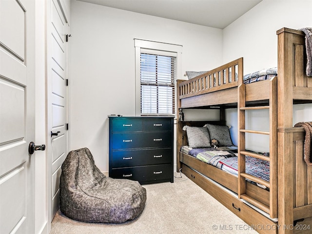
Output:
[[34,233],[35,1],[0,0],[0,233]]

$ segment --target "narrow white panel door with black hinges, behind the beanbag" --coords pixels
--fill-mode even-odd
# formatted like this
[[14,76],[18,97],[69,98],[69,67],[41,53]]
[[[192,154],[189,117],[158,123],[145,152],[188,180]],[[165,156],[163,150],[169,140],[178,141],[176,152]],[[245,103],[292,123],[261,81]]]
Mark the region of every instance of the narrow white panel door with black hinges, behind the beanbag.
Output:
[[[59,209],[59,176],[67,156],[67,43],[68,24],[60,1],[51,1],[51,70],[48,71],[48,127],[51,131],[51,218]],[[53,134],[53,135],[52,135]]]

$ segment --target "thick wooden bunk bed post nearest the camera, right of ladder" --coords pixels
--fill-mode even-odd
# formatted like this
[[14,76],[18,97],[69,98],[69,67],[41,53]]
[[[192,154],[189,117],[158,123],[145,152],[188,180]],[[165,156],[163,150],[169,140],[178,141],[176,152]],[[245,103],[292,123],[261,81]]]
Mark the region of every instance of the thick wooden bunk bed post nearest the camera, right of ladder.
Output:
[[292,79],[293,40],[295,30],[282,28],[278,35],[278,224],[279,234],[292,234],[293,224],[293,170],[292,170]]

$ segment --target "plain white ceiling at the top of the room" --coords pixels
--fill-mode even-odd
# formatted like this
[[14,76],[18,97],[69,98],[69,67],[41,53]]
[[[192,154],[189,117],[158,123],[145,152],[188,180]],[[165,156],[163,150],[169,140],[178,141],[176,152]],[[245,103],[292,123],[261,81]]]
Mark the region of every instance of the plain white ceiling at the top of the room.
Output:
[[81,0],[223,29],[262,0]]

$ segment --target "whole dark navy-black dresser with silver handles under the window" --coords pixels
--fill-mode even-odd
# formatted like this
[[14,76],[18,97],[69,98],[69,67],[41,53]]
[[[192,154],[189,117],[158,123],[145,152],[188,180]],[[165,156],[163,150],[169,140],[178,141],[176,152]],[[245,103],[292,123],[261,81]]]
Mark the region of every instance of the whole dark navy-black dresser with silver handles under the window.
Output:
[[173,183],[173,125],[173,117],[109,117],[109,176]]

